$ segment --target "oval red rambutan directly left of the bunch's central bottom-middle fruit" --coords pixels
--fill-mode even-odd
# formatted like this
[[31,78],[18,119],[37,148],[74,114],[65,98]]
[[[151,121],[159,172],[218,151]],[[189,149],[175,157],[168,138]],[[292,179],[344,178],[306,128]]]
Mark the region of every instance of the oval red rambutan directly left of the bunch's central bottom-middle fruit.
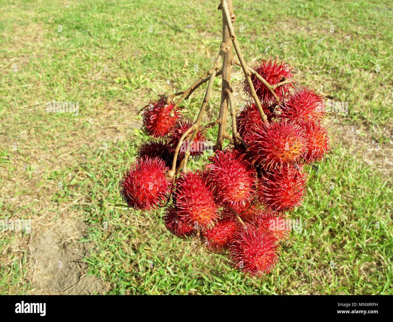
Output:
[[218,219],[213,194],[199,171],[182,173],[176,180],[174,204],[180,220],[195,228],[212,227]]

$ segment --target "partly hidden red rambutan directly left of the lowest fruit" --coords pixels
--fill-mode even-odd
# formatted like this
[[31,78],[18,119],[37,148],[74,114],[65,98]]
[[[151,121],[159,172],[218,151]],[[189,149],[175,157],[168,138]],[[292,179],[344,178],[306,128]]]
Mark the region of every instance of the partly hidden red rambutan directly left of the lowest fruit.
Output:
[[216,253],[227,251],[238,226],[239,223],[235,218],[220,219],[214,227],[202,231],[202,245]]

